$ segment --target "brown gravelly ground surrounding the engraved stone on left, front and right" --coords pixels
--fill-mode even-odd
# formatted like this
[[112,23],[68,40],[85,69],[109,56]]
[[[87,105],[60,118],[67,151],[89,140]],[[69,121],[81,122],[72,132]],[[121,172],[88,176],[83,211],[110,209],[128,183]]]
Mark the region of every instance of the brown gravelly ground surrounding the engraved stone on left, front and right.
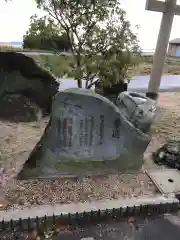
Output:
[[[152,141],[144,154],[145,169],[157,169],[151,159],[170,135],[180,135],[180,94],[162,93],[161,109],[152,127]],[[152,195],[154,186],[144,173],[113,174],[81,180],[16,181],[13,177],[21,169],[29,153],[43,133],[48,119],[31,123],[0,121],[1,192],[14,207],[45,203],[85,202],[99,199],[116,199],[127,196]],[[2,199],[2,201],[4,201]],[[0,202],[1,203],[1,202]]]

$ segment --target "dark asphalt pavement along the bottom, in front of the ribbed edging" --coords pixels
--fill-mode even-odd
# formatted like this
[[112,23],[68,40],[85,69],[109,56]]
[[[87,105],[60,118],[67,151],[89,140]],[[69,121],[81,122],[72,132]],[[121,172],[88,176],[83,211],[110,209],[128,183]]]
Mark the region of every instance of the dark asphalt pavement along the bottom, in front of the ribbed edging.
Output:
[[[124,221],[108,221],[95,224],[89,221],[88,225],[65,227],[51,233],[53,240],[179,240],[180,218],[176,215],[163,215],[158,217],[135,218],[134,221],[126,219]],[[24,239],[28,233],[20,237],[20,233],[15,233],[16,239]],[[30,235],[30,234],[29,234]],[[46,233],[48,235],[48,232]],[[52,236],[53,235],[53,236]],[[3,239],[15,239],[8,232],[2,232]],[[46,239],[43,232],[40,239]]]

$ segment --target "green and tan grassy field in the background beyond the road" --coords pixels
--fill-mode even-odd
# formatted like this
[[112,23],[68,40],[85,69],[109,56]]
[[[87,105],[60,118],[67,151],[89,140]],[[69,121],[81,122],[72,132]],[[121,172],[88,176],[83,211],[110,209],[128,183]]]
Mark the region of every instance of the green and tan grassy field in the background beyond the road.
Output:
[[[11,46],[0,46],[0,51],[52,53],[52,51],[48,50],[23,49]],[[72,56],[62,56],[56,54],[54,55],[27,54],[27,56],[33,58],[40,67],[46,69],[47,71],[50,71],[56,77],[74,78],[75,63],[73,61]],[[153,64],[152,56],[144,56],[138,59],[137,65],[129,68],[128,70],[129,77],[151,74],[152,64]],[[166,57],[163,73],[180,75],[180,58]]]

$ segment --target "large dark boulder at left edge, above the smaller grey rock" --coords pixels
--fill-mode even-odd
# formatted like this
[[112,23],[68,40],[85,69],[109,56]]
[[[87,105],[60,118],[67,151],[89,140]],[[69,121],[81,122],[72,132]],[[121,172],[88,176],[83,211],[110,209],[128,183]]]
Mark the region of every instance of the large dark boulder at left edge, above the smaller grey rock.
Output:
[[0,52],[0,98],[3,94],[21,94],[50,113],[52,97],[59,84],[36,62],[21,53]]

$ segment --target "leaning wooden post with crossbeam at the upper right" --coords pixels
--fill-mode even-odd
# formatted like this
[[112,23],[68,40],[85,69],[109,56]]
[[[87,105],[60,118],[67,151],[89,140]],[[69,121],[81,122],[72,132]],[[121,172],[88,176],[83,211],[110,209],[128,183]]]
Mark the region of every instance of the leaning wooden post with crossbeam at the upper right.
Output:
[[158,0],[146,0],[146,10],[163,13],[153,59],[148,92],[146,93],[148,97],[153,99],[158,97],[174,15],[180,15],[180,6],[176,3],[177,0],[165,0],[165,2]]

